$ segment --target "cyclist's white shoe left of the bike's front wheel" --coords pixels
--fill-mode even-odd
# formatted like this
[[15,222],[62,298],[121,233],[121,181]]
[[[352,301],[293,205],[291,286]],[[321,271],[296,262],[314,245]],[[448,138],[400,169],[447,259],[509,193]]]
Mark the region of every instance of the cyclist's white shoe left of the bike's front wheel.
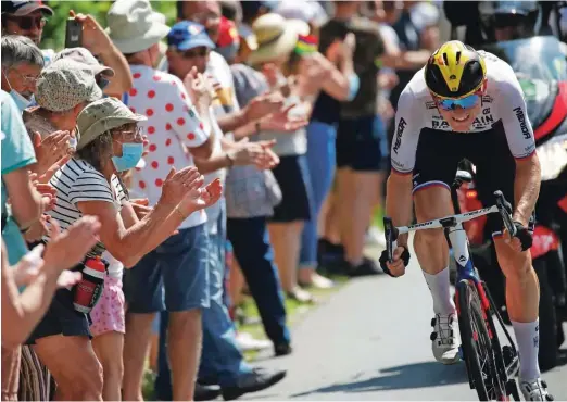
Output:
[[433,332],[431,332],[431,349],[433,356],[438,362],[443,364],[454,364],[461,360],[458,347],[461,341],[458,338],[458,323],[456,315],[436,314],[431,319]]

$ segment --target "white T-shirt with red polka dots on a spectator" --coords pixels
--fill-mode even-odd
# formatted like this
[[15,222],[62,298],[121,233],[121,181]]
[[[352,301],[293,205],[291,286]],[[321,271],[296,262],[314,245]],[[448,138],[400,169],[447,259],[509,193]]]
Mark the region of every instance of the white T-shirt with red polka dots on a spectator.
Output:
[[[130,71],[134,87],[123,101],[133,112],[148,117],[139,124],[150,140],[146,167],[135,169],[133,187],[137,194],[149,199],[150,205],[155,205],[171,168],[194,166],[187,148],[203,145],[209,133],[179,78],[144,65],[130,65]],[[200,211],[189,215],[179,228],[205,222],[206,213]]]

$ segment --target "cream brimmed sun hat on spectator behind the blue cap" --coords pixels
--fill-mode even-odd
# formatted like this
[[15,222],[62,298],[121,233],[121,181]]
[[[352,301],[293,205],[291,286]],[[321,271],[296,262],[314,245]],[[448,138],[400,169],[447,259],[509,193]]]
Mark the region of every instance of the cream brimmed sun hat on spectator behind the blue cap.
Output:
[[259,64],[291,53],[299,36],[310,34],[310,26],[300,20],[286,20],[279,14],[268,13],[254,21],[252,30],[257,49],[248,61],[250,64]]

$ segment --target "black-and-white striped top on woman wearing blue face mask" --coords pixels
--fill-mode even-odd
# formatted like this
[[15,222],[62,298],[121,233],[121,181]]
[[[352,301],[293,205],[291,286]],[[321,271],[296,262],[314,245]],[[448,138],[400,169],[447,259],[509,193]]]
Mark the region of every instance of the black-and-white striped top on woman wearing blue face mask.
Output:
[[[112,175],[111,186],[102,173],[83,160],[68,161],[55,173],[49,184],[58,193],[55,206],[48,213],[58,221],[63,230],[83,216],[77,208],[78,202],[111,202],[119,211],[123,202],[128,200],[115,175]],[[104,246],[99,242],[88,255],[100,255],[104,250]]]

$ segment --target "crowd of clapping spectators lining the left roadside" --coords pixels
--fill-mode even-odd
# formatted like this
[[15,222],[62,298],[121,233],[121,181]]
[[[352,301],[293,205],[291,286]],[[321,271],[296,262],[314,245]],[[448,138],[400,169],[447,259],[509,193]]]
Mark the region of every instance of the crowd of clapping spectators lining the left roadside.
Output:
[[[72,11],[55,51],[50,7],[2,1],[2,400],[142,400],[148,361],[160,400],[266,389],[286,370],[243,352],[293,352],[286,298],[380,273],[363,251],[438,5],[172,4],[172,26],[148,0]],[[245,293],[268,341],[236,330]]]

